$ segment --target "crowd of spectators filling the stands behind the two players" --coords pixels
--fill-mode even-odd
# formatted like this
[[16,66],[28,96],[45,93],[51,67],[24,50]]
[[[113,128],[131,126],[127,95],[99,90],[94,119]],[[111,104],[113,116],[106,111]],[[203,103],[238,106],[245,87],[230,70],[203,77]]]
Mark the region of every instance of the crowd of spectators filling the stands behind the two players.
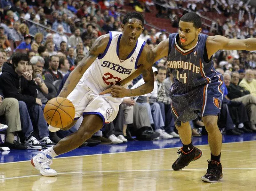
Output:
[[[255,37],[255,9],[249,11],[246,4],[239,4],[239,7],[236,4],[222,6],[226,2],[224,0],[211,1],[210,5],[207,2],[201,2],[202,9],[195,7],[192,1],[187,1],[186,6],[190,11],[199,13],[224,12],[227,16],[225,23],[222,25],[219,20],[216,23],[218,31],[228,38]],[[38,150],[51,147],[60,138],[79,128],[82,118],[67,131],[49,132],[43,116],[44,106],[58,95],[70,71],[74,70],[100,35],[108,31],[122,32],[121,22],[126,12],[124,3],[121,0],[91,3],[76,0],[1,0],[0,131],[3,133],[6,129],[4,145],[14,149]],[[157,0],[156,3],[161,7],[167,6],[167,9],[160,8],[151,0],[133,1],[130,5],[140,12],[151,12],[150,7],[156,5],[157,9],[162,10],[159,13],[167,10],[169,18],[173,20],[179,16],[172,10],[184,6],[184,2],[174,0]],[[234,10],[239,12],[238,18],[233,18]],[[204,33],[207,33],[206,29]],[[157,31],[145,27],[140,37],[153,49],[168,38],[168,34],[165,29]],[[224,77],[231,78],[229,84],[225,78],[226,86],[222,87],[226,94],[221,109],[220,129],[231,135],[255,131],[256,53],[220,50],[213,59],[215,68]],[[20,75],[25,70],[26,75]],[[168,96],[173,77],[168,73],[166,58],[157,61],[153,71],[154,91],[136,98],[124,98],[115,121],[105,125],[82,146],[125,143],[134,137],[138,140],[179,137]],[[140,76],[129,87],[136,88],[143,83]],[[244,112],[241,114],[240,111]],[[190,121],[190,124],[192,136],[206,133],[200,118]]]

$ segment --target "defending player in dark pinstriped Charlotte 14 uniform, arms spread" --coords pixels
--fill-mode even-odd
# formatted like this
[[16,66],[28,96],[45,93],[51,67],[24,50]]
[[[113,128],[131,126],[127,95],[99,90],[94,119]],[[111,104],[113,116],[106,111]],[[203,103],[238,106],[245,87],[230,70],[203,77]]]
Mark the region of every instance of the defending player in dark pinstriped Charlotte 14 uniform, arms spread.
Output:
[[172,114],[183,144],[173,170],[181,170],[201,157],[202,151],[191,142],[190,120],[202,117],[208,132],[211,160],[203,181],[216,182],[222,178],[220,151],[222,135],[217,125],[223,94],[222,76],[213,68],[212,55],[218,50],[256,50],[256,38],[228,39],[201,34],[201,18],[187,13],[180,18],[179,33],[173,33],[154,49],[154,62],[166,56],[174,83],[170,89]]

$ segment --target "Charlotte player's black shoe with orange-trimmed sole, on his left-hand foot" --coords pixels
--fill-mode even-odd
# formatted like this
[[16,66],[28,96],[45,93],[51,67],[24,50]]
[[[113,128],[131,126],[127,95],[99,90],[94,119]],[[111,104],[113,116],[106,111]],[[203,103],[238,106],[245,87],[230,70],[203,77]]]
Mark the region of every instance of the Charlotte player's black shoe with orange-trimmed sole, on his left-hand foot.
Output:
[[202,151],[196,147],[187,153],[185,153],[182,148],[178,149],[177,152],[178,155],[180,154],[180,157],[172,164],[172,169],[175,171],[185,168],[191,161],[197,160],[202,156]]

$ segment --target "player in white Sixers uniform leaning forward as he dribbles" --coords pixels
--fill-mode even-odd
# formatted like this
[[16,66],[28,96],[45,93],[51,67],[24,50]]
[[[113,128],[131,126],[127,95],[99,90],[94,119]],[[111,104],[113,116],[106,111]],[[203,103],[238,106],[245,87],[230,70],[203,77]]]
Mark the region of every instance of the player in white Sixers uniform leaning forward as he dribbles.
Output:
[[[100,36],[93,43],[90,52],[70,73],[59,95],[69,99],[76,110],[75,119],[67,129],[71,128],[80,116],[83,116],[84,120],[75,133],[31,159],[31,164],[43,176],[57,175],[49,166],[52,164],[52,158],[76,149],[104,124],[113,121],[122,97],[135,97],[153,91],[153,51],[139,38],[143,25],[144,19],[140,13],[128,13],[121,25],[123,33],[110,32]],[[122,80],[138,67],[142,70],[145,84],[133,90],[124,88]],[[111,86],[111,93],[99,95]],[[49,126],[49,130],[58,129]]]

